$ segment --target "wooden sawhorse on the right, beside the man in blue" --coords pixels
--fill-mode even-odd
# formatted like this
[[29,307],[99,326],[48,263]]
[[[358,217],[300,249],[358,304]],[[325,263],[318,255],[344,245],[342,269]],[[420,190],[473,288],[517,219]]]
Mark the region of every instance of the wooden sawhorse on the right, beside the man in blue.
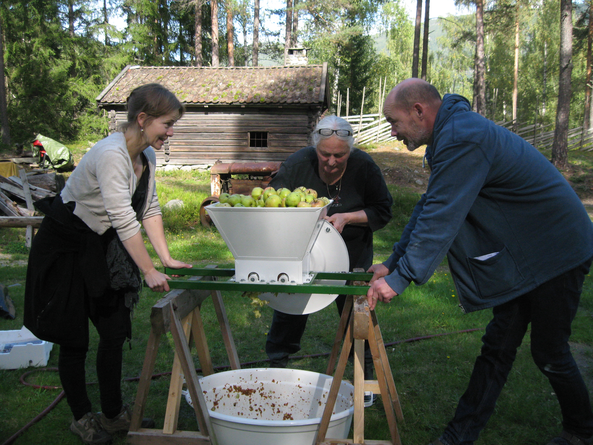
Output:
[[[356,271],[355,271],[356,272]],[[364,282],[355,282],[355,284],[364,284]],[[346,329],[344,336],[344,329]],[[403,421],[401,413],[400,400],[397,396],[396,384],[393,381],[393,374],[389,367],[387,351],[377,322],[377,316],[374,310],[369,310],[366,295],[348,295],[346,304],[340,318],[340,325],[336,332],[336,338],[331,349],[330,361],[327,365],[326,374],[331,375],[336,364],[337,352],[342,343],[342,351],[337,361],[336,373],[333,374],[330,393],[327,396],[326,407],[321,417],[321,424],[317,433],[317,445],[330,444],[366,444],[366,445],[401,445],[400,436],[397,431],[396,417]],[[365,380],[364,363],[364,342],[368,340],[371,347],[373,364],[377,372],[377,380]],[[336,403],[337,393],[340,388],[340,382],[344,376],[346,362],[350,349],[354,344],[354,415],[353,415],[353,439],[332,439],[326,438],[327,428],[329,427],[331,412]],[[391,434],[391,441],[366,441],[364,438],[364,392],[372,391],[380,393],[383,407],[385,408],[385,417]],[[378,391],[377,391],[378,390]]]

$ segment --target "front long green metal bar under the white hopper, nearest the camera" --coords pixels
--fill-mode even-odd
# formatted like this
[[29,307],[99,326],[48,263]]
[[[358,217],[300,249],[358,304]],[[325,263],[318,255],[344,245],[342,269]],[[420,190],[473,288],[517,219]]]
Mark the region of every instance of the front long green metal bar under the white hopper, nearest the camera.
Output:
[[270,292],[286,294],[347,294],[366,295],[369,286],[324,284],[268,284],[235,281],[186,281],[170,279],[171,289],[202,289],[214,291]]

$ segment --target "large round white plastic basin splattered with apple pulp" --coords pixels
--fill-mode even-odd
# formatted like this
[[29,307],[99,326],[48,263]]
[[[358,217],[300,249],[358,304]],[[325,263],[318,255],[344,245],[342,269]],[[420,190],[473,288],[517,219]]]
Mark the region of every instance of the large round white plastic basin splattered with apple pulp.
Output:
[[[225,371],[200,386],[218,445],[314,445],[331,376],[288,368]],[[347,438],[354,387],[340,384],[326,437]]]

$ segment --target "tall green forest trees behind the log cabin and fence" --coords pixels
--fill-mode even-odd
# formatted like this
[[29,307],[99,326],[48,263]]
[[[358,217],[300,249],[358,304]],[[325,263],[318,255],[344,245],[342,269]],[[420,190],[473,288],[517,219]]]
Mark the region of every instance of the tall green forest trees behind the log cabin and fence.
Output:
[[[553,129],[564,96],[569,127],[591,127],[593,0],[455,4],[476,14],[422,23],[429,0],[417,0],[416,21],[404,0],[286,0],[261,11],[259,0],[3,0],[0,151],[27,148],[39,133],[91,142],[107,135],[95,97],[126,65],[282,65],[295,46],[310,49],[309,63],[329,63],[331,112],[340,93],[350,114],[361,106],[377,113],[380,80],[389,89],[413,75],[441,94],[463,94],[495,122]],[[572,30],[563,43],[567,11]]]

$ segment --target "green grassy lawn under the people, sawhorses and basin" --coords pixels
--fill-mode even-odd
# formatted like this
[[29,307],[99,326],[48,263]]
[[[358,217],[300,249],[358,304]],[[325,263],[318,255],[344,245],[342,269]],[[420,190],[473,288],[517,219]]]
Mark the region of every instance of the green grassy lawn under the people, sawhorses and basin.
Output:
[[[372,152],[371,152],[372,155]],[[578,154],[579,167],[588,172],[591,155]],[[578,185],[584,192],[590,189],[590,177],[576,174]],[[170,199],[182,199],[182,211],[165,213],[165,231],[174,258],[183,259],[195,266],[216,264],[232,267],[233,259],[224,241],[215,228],[205,228],[199,223],[199,205],[210,194],[209,175],[199,173],[161,173],[158,178],[158,195],[162,204]],[[393,242],[398,239],[419,198],[416,192],[406,187],[390,186],[394,197],[394,218],[384,229],[375,233],[375,262],[381,262],[391,253]],[[23,322],[23,294],[26,266],[19,265],[27,259],[24,244],[24,229],[0,228],[0,260],[11,262],[0,267],[0,282],[10,286],[9,295],[17,307],[17,319],[0,319],[0,330],[20,329]],[[149,246],[149,244],[147,244]],[[158,258],[149,247],[155,263]],[[160,264],[159,264],[160,265]],[[133,338],[124,348],[123,393],[126,402],[133,402],[145,355],[149,332],[149,314],[152,305],[162,294],[144,290],[135,311]],[[262,308],[262,316],[256,318],[249,300],[240,294],[223,294],[229,323],[235,338],[241,362],[252,363],[248,367],[265,366],[264,344],[266,332],[272,319],[272,310]],[[388,344],[388,358],[405,421],[398,424],[404,444],[426,445],[438,437],[454,414],[458,398],[466,389],[473,361],[479,354],[483,328],[490,318],[490,311],[463,314],[457,307],[455,295],[446,265],[438,268],[428,284],[422,287],[412,285],[390,304],[380,304],[377,317],[382,336]],[[593,281],[586,279],[581,308],[573,323],[572,341],[581,347],[582,356],[593,360]],[[205,323],[208,345],[215,366],[228,364],[222,336],[216,322],[212,304],[203,304],[202,317]],[[332,304],[326,309],[311,314],[299,354],[323,354],[330,351],[336,332],[338,317]],[[476,332],[460,332],[479,329]],[[419,341],[402,342],[420,336],[434,336]],[[94,370],[97,335],[91,328],[90,352],[88,354],[87,381],[96,382]],[[54,345],[48,367],[57,366],[58,345]],[[194,351],[195,352],[195,351]],[[196,357],[196,367],[200,364]],[[173,363],[173,339],[163,336],[155,373],[164,375],[154,379],[148,398],[145,415],[153,417],[157,427],[162,427],[167,400],[168,384]],[[327,357],[299,357],[289,366],[311,371],[324,372]],[[27,422],[42,412],[58,396],[58,389],[42,389],[21,384],[19,379],[25,371],[0,370],[0,443],[16,433]],[[584,369],[585,379],[591,382],[591,371]],[[352,378],[352,368],[346,370],[346,378]],[[52,371],[36,371],[27,381],[39,386],[59,386],[58,374]],[[593,386],[589,384],[593,390]],[[99,411],[97,384],[88,386],[94,410]],[[593,395],[593,393],[592,393]],[[68,430],[71,412],[65,400],[49,412],[40,422],[29,428],[15,444],[69,445],[79,444],[77,437]],[[193,410],[181,401],[180,430],[197,430]],[[559,433],[560,409],[551,387],[538,371],[530,355],[530,339],[525,336],[519,349],[515,366],[509,381],[500,396],[496,412],[483,431],[478,445],[540,445]],[[387,422],[381,403],[375,403],[365,410],[365,439],[388,440]],[[117,436],[114,444],[123,444],[124,434]]]

